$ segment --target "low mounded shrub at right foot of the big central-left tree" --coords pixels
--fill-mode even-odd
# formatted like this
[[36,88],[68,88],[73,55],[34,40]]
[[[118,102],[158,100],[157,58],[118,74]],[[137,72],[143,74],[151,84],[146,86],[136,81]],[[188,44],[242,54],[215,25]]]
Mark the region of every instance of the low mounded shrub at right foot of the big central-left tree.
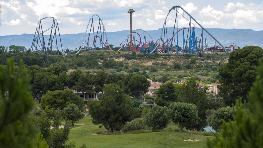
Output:
[[132,130],[141,130],[144,129],[143,119],[135,118],[131,122],[127,122],[124,127],[122,128],[123,132],[129,132]]

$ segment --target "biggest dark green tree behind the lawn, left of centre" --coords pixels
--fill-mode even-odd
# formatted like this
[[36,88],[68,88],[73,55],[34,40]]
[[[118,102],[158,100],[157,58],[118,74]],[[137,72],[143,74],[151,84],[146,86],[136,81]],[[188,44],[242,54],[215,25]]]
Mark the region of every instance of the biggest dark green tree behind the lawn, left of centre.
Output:
[[103,124],[108,130],[121,130],[127,121],[134,118],[134,108],[131,99],[124,90],[115,83],[103,88],[104,95],[100,101],[88,104],[89,113],[94,124]]

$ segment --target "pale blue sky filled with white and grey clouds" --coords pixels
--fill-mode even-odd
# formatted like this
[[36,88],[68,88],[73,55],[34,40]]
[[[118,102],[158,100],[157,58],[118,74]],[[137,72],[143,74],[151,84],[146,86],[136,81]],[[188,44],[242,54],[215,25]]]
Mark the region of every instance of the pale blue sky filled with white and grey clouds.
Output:
[[[157,30],[169,9],[180,5],[206,28],[263,30],[262,0],[0,0],[0,36],[34,34],[39,19],[47,16],[58,20],[61,34],[84,32],[93,14],[101,17],[107,32],[129,30],[131,1],[133,29]],[[188,26],[183,16],[178,18],[179,27]],[[173,11],[167,26],[173,26],[174,19]]]

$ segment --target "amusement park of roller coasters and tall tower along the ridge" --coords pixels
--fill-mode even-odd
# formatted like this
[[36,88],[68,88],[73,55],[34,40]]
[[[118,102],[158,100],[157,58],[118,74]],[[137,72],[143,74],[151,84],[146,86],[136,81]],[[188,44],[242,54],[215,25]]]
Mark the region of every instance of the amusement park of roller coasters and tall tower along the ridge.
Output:
[[[186,13],[188,15],[188,18],[179,13],[179,9],[181,9],[183,13]],[[171,35],[171,32],[167,32],[167,18],[169,14],[175,11],[175,21],[173,26],[173,32]],[[130,25],[131,25],[131,32],[127,36],[127,38],[122,42],[119,46],[118,51],[137,51],[141,53],[172,53],[172,54],[198,54],[200,51],[207,50],[208,44],[207,44],[207,38],[203,38],[204,35],[209,37],[214,41],[214,43],[218,44],[222,47],[226,53],[229,53],[225,47],[218,42],[217,39],[215,39],[198,21],[196,21],[184,8],[181,6],[174,6],[172,7],[164,21],[164,24],[162,26],[162,31],[160,38],[156,41],[153,40],[153,38],[150,36],[148,32],[142,29],[136,29],[132,30],[132,13],[135,11],[133,9],[129,9],[128,13],[130,13]],[[181,15],[186,20],[188,20],[189,25],[188,27],[184,28],[178,28],[178,16]],[[43,31],[42,27],[42,21],[45,19],[53,19],[51,27],[47,28]],[[97,20],[98,19],[98,20]],[[95,25],[95,21],[96,24]],[[197,27],[196,24],[199,26]],[[95,28],[95,30],[94,30]],[[201,35],[198,37],[195,35],[195,30],[199,29],[201,32]],[[49,37],[46,37],[44,33],[49,33]],[[140,33],[139,33],[140,32]],[[141,33],[142,32],[142,33]],[[178,45],[178,35],[179,32],[182,32],[180,34],[183,35],[182,37],[182,47],[179,47]],[[48,39],[49,38],[49,39]],[[203,42],[205,41],[205,42]],[[58,23],[55,18],[53,17],[46,17],[39,20],[36,32],[34,35],[34,39],[31,46],[31,51],[33,52],[39,52],[41,54],[50,55],[52,54],[52,49],[56,50],[56,54],[79,54],[80,51],[83,50],[113,50],[110,47],[110,44],[108,42],[107,32],[105,30],[105,27],[103,25],[103,22],[101,18],[98,15],[93,15],[89,19],[88,25],[86,27],[85,35],[83,38],[83,42],[81,47],[78,50],[71,51],[68,53],[65,53],[62,48],[62,43],[60,39],[60,32],[58,28]]]

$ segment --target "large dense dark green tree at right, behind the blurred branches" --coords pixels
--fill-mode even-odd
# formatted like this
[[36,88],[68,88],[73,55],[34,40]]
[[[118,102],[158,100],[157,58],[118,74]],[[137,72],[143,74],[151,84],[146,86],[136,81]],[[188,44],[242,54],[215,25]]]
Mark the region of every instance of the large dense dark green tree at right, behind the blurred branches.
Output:
[[247,100],[247,94],[257,75],[260,58],[263,58],[261,47],[247,46],[232,52],[228,63],[220,66],[219,74],[222,78],[218,88],[227,106],[234,104],[240,97],[243,101]]

